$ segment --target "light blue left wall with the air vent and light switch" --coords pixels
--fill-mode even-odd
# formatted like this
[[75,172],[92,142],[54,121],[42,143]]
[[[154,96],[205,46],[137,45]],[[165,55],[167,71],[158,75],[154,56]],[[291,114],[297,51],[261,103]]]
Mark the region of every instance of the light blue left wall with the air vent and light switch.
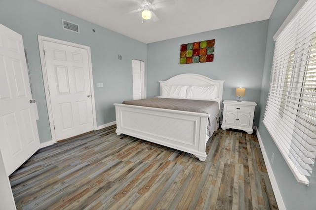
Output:
[[[62,29],[61,19],[79,24],[80,34]],[[109,20],[105,20],[109,21]],[[91,47],[97,126],[115,121],[113,103],[132,99],[132,59],[146,64],[146,44],[46,6],[36,0],[0,0],[0,23],[23,36],[40,142],[51,140],[37,35]],[[95,29],[95,33],[92,32]],[[118,54],[122,60],[118,60]],[[103,82],[103,88],[97,88]]]

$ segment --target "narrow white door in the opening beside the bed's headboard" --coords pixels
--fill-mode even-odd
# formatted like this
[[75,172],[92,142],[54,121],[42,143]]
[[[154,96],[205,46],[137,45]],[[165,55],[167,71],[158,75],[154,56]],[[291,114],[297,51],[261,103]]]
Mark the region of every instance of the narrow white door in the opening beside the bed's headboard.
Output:
[[145,99],[145,66],[143,61],[132,60],[133,99]]

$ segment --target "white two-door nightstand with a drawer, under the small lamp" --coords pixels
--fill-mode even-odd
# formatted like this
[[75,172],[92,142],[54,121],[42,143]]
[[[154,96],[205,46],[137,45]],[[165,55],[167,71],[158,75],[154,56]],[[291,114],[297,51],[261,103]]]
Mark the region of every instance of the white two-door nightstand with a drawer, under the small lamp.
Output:
[[227,101],[223,102],[223,124],[222,129],[229,128],[243,130],[247,134],[252,134],[253,115],[255,112],[255,102],[237,102]]

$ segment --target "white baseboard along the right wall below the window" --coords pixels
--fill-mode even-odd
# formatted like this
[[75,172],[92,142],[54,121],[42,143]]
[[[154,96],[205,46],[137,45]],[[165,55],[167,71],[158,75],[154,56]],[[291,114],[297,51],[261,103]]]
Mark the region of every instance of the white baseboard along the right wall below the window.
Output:
[[280,192],[280,190],[279,190],[279,188],[277,186],[277,183],[276,183],[276,177],[275,177],[275,175],[274,175],[274,173],[272,171],[272,167],[270,165],[270,161],[269,161],[267,152],[265,150],[265,147],[263,145],[263,141],[262,141],[262,139],[260,137],[258,128],[255,127],[255,130],[256,130],[257,138],[259,140],[259,145],[260,145],[260,148],[261,148],[262,156],[263,156],[263,159],[265,160],[265,165],[266,165],[266,168],[267,168],[267,171],[268,171],[268,175],[269,175],[269,178],[270,178],[272,189],[273,189],[273,192],[275,194],[277,207],[278,207],[279,210],[286,210],[284,202],[283,202],[283,199],[282,199],[281,192]]

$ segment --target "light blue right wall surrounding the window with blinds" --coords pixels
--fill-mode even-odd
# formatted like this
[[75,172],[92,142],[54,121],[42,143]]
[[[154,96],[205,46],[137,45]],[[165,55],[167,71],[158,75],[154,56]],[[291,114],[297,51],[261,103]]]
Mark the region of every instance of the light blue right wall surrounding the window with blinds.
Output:
[[[298,0],[278,0],[274,12],[269,20],[267,47],[265,55],[265,65],[262,76],[262,87],[260,96],[260,106],[262,107],[259,120],[259,134],[263,140],[264,147],[270,159],[272,170],[276,177],[276,182],[287,210],[316,210],[316,166],[310,180],[310,185],[298,184],[294,175],[285,163],[282,155],[272,140],[270,134],[262,123],[264,109],[268,99],[269,80],[272,68],[272,60],[275,42],[273,35],[283,23],[287,15],[291,12]],[[271,163],[272,153],[275,154],[274,163]]]

